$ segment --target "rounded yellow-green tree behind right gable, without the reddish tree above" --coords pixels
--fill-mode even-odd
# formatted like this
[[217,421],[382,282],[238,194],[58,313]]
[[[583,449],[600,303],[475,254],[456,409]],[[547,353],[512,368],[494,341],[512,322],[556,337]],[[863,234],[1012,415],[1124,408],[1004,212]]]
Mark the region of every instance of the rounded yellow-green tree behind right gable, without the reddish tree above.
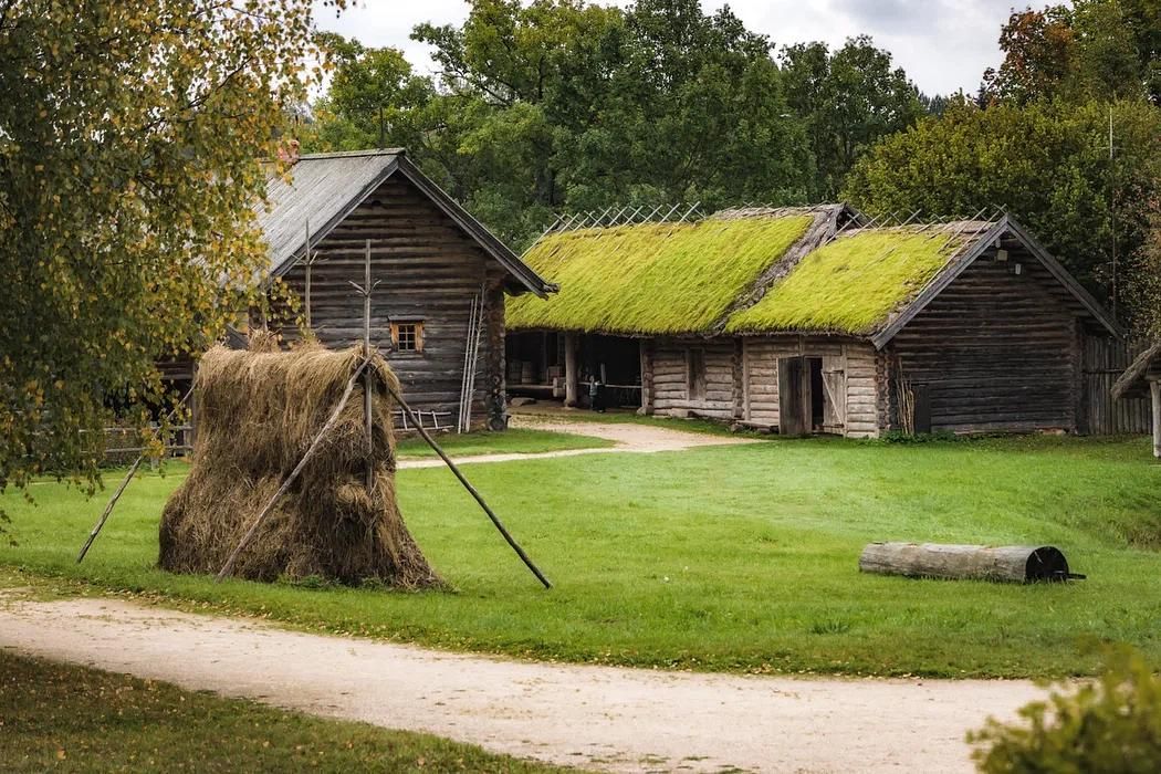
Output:
[[[1116,158],[1109,160],[1110,110]],[[856,165],[846,196],[868,212],[973,215],[1000,207],[1098,297],[1135,274],[1147,232],[1138,203],[1159,191],[1161,109],[1145,102],[969,102],[885,139]]]

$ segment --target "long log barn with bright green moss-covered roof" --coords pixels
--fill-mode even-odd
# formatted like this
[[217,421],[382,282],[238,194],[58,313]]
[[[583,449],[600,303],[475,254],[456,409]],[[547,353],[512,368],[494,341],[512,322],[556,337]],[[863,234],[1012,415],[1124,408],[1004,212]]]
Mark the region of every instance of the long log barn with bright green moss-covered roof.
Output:
[[[507,312],[513,392],[784,434],[1086,432],[1110,314],[1015,220],[877,226],[844,205],[560,230]],[[555,390],[554,390],[555,388]]]

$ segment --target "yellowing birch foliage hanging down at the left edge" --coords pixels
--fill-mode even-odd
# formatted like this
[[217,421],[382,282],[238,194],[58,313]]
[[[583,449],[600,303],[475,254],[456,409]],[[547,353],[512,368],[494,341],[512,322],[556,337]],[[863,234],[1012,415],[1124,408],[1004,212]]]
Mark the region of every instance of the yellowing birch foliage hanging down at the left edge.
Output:
[[0,490],[95,478],[111,406],[218,335],[303,96],[308,0],[0,0]]

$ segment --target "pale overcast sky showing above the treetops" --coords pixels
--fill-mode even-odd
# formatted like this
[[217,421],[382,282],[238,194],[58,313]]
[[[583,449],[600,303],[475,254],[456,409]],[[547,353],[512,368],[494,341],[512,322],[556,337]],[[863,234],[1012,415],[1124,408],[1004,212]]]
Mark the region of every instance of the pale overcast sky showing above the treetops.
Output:
[[[468,15],[462,0],[353,0],[336,19],[322,8],[319,27],[365,44],[403,49],[423,72],[431,72],[426,46],[409,38],[419,22],[459,24]],[[613,5],[613,3],[606,3]],[[615,5],[629,5],[627,0]],[[707,10],[722,0],[702,0]],[[728,3],[745,26],[769,35],[779,46],[802,41],[843,44],[866,34],[894,55],[913,81],[928,94],[972,93],[983,68],[1000,62],[1000,27],[1014,5],[1027,0],[733,0]],[[1032,5],[1044,5],[1032,0]]]

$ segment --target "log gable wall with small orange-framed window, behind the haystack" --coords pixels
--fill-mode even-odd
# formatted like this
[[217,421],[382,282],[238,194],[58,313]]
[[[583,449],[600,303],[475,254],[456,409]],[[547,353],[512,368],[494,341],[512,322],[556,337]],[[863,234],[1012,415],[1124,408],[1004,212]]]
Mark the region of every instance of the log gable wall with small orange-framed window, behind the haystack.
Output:
[[[362,299],[351,282],[362,284],[366,241],[372,241],[372,340],[390,361],[413,408],[447,412],[453,426],[460,403],[473,297],[483,288],[485,328],[479,339],[473,425],[498,425],[504,415],[503,267],[421,191],[391,178],[367,197],[325,239],[315,245],[311,269],[311,323],[329,347],[362,340]],[[283,277],[300,298],[305,267]],[[421,353],[391,346],[390,319],[423,320]],[[284,326],[294,338],[296,330]]]

